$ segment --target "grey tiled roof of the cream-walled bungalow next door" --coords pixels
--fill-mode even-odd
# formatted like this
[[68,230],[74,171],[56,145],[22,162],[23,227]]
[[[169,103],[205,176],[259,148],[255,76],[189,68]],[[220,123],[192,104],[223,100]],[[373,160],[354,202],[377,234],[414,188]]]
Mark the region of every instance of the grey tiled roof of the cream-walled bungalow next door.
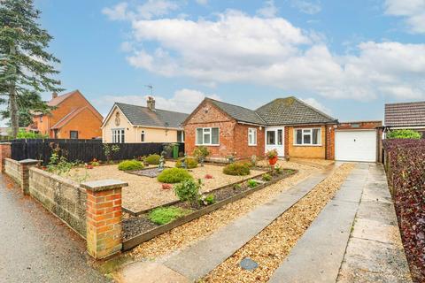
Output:
[[160,126],[181,128],[182,122],[189,114],[155,109],[151,111],[147,107],[131,105],[126,103],[115,103],[120,111],[135,126]]

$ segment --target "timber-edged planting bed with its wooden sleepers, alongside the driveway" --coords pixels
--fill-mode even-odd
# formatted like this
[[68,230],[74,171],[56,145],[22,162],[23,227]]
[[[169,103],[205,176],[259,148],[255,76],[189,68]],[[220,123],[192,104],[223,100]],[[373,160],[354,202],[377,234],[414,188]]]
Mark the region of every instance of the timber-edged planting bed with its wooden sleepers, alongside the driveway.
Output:
[[[209,213],[213,210],[217,210],[225,204],[235,202],[236,200],[241,199],[246,195],[250,195],[251,193],[258,191],[261,188],[267,187],[268,185],[271,185],[279,180],[287,178],[295,172],[296,171],[294,170],[283,170],[283,172],[280,174],[271,175],[272,178],[268,181],[263,180],[263,175],[268,175],[268,173],[265,172],[251,180],[237,182],[235,184],[231,184],[225,187],[220,187],[206,194],[214,195],[215,199],[215,203],[206,206],[202,205],[199,207],[196,205],[191,205],[187,202],[173,202],[168,203],[166,205],[162,205],[161,207],[174,206],[185,210],[193,210],[192,213],[189,213],[188,215],[182,218],[177,218],[176,220],[162,226],[151,222],[149,218],[149,213],[151,210],[145,210],[137,217],[128,216],[128,218],[125,218],[123,220],[123,249],[131,249],[136,245],[142,243],[143,241],[148,241],[161,233],[165,233],[177,226],[181,226],[184,223],[199,218],[202,215],[205,215],[206,213]],[[255,180],[257,182],[257,186],[252,186],[252,180]]]

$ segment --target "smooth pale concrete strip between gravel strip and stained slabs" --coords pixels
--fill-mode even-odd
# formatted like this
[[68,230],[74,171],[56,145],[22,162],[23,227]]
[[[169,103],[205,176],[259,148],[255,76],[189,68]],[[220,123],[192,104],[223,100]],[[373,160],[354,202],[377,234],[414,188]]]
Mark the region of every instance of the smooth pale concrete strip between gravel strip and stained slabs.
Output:
[[356,165],[269,282],[336,281],[367,174],[368,165]]

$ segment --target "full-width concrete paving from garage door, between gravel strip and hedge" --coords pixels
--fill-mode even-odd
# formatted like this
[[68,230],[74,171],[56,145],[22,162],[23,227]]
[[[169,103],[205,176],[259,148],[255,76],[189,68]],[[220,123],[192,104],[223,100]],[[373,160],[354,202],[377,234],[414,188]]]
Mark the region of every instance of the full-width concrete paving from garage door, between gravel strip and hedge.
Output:
[[409,282],[389,194],[381,165],[357,164],[269,282]]

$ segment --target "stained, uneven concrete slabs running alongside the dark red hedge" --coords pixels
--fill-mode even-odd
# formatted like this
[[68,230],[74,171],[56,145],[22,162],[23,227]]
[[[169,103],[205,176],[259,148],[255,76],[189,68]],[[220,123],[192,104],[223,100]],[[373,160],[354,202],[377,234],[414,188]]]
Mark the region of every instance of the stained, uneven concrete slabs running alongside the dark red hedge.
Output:
[[337,282],[412,282],[383,166],[371,164]]

